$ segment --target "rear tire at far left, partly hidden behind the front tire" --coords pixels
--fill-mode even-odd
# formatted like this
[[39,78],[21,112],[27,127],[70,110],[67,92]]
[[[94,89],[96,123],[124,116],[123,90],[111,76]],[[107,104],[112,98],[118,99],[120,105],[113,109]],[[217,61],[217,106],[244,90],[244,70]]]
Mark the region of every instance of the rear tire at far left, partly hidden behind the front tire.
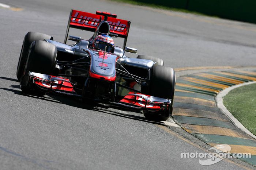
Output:
[[17,78],[18,81],[20,81],[20,78],[22,77],[22,74],[24,73],[24,69],[25,69],[25,64],[27,61],[27,56],[28,56],[28,52],[29,52],[29,47],[31,45],[32,42],[34,42],[35,40],[44,40],[44,39],[50,39],[53,40],[52,36],[50,35],[46,35],[46,34],[42,34],[39,32],[28,32],[23,40],[23,44],[22,44],[22,48],[20,51],[20,57],[19,57],[19,62],[18,62],[18,66],[17,66]]

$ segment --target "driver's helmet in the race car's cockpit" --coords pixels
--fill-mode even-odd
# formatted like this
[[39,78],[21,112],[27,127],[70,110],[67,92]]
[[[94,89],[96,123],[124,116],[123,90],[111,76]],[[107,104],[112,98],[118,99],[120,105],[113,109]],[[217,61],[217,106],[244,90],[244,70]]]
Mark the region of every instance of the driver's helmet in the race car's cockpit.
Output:
[[105,50],[106,47],[106,52],[110,52],[114,48],[114,41],[109,35],[98,35],[93,41],[93,47],[101,50]]

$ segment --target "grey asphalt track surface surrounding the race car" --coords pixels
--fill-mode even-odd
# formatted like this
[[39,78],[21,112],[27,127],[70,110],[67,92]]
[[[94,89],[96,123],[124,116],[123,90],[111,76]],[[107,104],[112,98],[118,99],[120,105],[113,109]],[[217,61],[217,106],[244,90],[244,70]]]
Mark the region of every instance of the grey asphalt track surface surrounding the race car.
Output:
[[[174,68],[255,66],[256,26],[99,0],[1,0],[0,169],[243,169],[237,160],[201,166],[181,152],[209,147],[140,113],[92,107],[74,98],[26,96],[16,67],[26,32],[63,42],[71,9],[116,13],[131,21],[127,46]],[[86,37],[84,37],[86,39]]]

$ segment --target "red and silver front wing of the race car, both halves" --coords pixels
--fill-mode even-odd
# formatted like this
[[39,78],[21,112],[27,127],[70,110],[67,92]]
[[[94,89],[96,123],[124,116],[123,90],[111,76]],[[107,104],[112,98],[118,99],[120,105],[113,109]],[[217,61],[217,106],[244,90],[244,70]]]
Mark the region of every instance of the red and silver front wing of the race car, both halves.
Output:
[[[50,76],[46,74],[29,72],[29,83],[41,90],[51,91],[58,94],[79,96],[74,90],[74,84],[67,78]],[[100,101],[99,103],[104,103]],[[129,109],[146,110],[150,112],[169,111],[172,109],[172,101],[169,99],[149,96],[141,93],[129,92],[120,101],[108,102],[106,104],[120,106]]]

